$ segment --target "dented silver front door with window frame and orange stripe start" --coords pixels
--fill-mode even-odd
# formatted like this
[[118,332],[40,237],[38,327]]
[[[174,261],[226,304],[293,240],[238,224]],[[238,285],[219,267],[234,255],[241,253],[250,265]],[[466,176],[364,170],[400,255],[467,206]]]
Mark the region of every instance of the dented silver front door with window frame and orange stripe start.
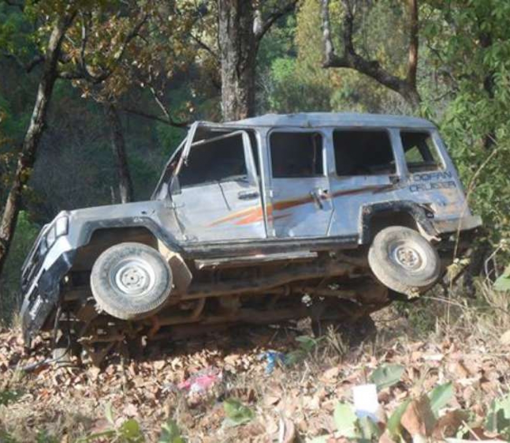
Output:
[[[192,242],[266,237],[259,177],[246,131],[200,128],[171,186],[183,233]],[[190,134],[193,136],[193,134]]]

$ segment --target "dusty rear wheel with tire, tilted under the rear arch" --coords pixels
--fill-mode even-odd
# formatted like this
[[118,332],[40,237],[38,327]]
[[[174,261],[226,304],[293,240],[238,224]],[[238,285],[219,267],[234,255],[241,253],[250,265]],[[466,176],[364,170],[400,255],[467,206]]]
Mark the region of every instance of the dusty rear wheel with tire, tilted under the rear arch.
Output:
[[430,288],[441,275],[436,249],[417,231],[403,226],[377,233],[368,251],[368,263],[382,284],[411,297]]

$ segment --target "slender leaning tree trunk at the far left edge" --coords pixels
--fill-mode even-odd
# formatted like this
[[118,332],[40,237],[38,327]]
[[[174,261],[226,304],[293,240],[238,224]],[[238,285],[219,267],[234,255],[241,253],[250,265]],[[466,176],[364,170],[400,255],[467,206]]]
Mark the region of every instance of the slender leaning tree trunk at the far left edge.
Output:
[[74,14],[66,13],[54,24],[49,36],[48,46],[44,55],[42,78],[37,89],[37,97],[32,111],[30,124],[25,134],[21,152],[19,154],[13,183],[7,196],[6,205],[0,221],[0,274],[5,265],[7,254],[11,246],[16,221],[18,218],[21,192],[30,178],[31,170],[36,159],[37,148],[44,131],[46,114],[53,86],[57,79],[57,65],[60,57],[62,39],[67,28],[71,25]]

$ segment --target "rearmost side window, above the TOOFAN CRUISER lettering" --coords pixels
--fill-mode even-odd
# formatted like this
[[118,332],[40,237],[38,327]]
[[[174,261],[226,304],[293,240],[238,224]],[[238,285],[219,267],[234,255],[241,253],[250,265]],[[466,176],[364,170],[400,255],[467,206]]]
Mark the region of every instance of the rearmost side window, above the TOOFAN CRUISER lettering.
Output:
[[401,131],[400,138],[409,172],[437,171],[443,167],[429,132]]

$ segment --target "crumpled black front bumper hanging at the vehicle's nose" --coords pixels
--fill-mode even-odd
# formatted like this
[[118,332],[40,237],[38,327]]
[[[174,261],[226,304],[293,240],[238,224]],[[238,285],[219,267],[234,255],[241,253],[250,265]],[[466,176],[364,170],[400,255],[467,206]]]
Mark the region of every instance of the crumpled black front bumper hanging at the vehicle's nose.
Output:
[[20,317],[25,346],[44,326],[55,310],[60,296],[60,282],[71,268],[74,251],[64,252],[48,269],[40,269],[23,294]]

